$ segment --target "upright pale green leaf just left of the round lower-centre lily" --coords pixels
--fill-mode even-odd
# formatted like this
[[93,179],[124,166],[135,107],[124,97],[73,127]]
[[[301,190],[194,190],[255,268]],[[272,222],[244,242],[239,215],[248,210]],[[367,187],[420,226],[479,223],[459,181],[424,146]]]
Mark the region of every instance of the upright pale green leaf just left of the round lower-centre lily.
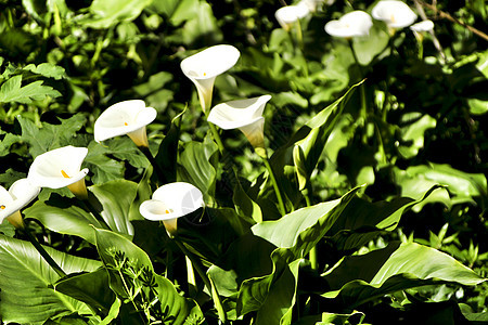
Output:
[[136,199],[138,184],[127,180],[115,180],[89,187],[100,204],[101,214],[108,226],[116,232],[133,235],[133,227],[129,221],[129,211]]

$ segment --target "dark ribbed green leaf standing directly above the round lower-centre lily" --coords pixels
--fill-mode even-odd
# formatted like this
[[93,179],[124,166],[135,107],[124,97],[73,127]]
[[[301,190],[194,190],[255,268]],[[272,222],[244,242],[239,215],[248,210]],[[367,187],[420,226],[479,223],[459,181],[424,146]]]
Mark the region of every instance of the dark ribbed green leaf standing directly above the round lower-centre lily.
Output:
[[215,192],[216,170],[211,164],[211,156],[218,147],[214,141],[206,138],[201,142],[190,142],[180,155],[180,168],[178,178],[183,182],[198,187],[204,196],[213,196]]

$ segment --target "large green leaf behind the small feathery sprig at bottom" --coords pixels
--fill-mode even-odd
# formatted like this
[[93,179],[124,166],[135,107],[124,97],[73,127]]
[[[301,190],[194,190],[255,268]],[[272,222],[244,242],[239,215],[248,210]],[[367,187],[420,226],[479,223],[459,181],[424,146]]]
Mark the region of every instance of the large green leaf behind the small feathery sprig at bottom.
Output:
[[[183,324],[187,320],[203,318],[198,306],[193,300],[180,296],[170,281],[154,273],[151,259],[141,248],[124,236],[110,231],[95,230],[95,236],[97,249],[108,270],[111,288],[119,297],[124,299],[128,299],[129,296],[133,297],[133,291],[129,292],[128,290],[133,289],[134,287],[131,285],[140,281],[139,276],[145,273],[151,275],[156,283],[154,290],[157,292],[157,301],[152,301],[152,303],[159,303],[162,314],[172,318],[171,324]],[[117,266],[120,258],[124,258],[124,264],[130,264],[132,274],[134,274],[134,277],[130,278],[129,287],[127,285],[129,273],[124,273],[125,269]],[[143,294],[142,291],[140,295]]]

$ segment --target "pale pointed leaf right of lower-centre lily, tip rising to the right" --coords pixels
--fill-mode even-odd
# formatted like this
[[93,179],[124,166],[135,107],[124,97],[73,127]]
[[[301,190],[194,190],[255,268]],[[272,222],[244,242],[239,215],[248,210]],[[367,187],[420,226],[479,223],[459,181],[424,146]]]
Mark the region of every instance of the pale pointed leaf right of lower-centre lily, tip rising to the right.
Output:
[[343,197],[301,208],[275,221],[265,221],[251,230],[277,247],[290,248],[296,258],[308,251],[333,226],[359,187]]

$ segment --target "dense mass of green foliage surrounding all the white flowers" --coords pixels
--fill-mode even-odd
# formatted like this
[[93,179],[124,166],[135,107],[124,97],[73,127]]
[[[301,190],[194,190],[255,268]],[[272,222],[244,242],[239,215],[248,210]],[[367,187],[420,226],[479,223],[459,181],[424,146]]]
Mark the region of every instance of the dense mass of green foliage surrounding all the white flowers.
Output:
[[[438,9],[486,30],[483,2]],[[372,6],[323,4],[287,32],[275,1],[0,0],[0,183],[25,177],[49,150],[86,146],[90,199],[111,227],[67,190],[43,188],[23,212],[69,275],[59,278],[2,224],[0,318],[487,322],[486,43],[442,20],[444,49],[426,37],[424,57],[408,29],[391,37],[378,22],[350,44],[329,37],[324,23],[351,5]],[[181,74],[183,57],[220,42],[242,56],[217,79],[214,101],[272,94],[266,138],[285,216],[245,139],[222,133],[220,155]],[[149,132],[165,179],[129,139],[93,141],[100,112],[126,99],[158,112]],[[211,207],[179,221],[174,240],[138,207],[155,184],[177,180]],[[211,302],[216,292],[222,306]],[[424,310],[431,318],[419,320]]]

